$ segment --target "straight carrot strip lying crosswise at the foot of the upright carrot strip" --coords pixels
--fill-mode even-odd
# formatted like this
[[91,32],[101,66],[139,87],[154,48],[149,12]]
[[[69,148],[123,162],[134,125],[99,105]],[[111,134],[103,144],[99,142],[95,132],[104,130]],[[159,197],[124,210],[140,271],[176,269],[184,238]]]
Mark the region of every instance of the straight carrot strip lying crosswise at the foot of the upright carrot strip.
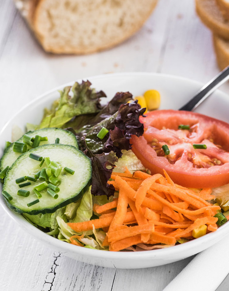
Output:
[[131,236],[140,235],[142,233],[148,234],[152,232],[154,232],[154,224],[151,223],[129,226],[126,229],[122,229],[121,232],[119,230],[108,232],[108,241],[120,241],[124,238],[129,238]]

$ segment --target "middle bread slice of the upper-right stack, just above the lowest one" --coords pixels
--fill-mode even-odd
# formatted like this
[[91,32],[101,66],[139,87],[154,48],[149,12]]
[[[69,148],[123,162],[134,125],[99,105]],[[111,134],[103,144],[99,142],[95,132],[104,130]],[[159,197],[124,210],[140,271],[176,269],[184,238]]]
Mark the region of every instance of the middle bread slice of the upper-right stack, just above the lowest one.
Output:
[[215,0],[196,0],[196,12],[214,34],[229,40],[229,22],[224,19]]

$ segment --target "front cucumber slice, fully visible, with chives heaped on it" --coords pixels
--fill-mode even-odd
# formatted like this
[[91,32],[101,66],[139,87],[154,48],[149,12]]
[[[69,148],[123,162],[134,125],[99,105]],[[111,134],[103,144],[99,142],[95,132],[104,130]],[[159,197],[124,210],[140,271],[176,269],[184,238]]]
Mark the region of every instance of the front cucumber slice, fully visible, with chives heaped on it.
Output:
[[[28,207],[27,203],[37,199],[36,194],[33,192],[33,187],[42,183],[42,181],[30,181],[31,185],[21,188],[30,191],[30,195],[28,197],[21,197],[17,195],[18,189],[20,188],[15,180],[23,176],[34,177],[34,174],[41,170],[39,167],[40,162],[29,157],[31,153],[42,157],[49,157],[51,161],[60,163],[62,171],[58,176],[58,179],[61,181],[58,185],[60,189],[57,193],[58,198],[54,199],[47,193],[47,189],[45,189],[40,192],[42,197],[39,198],[39,203]],[[46,167],[45,163],[42,168],[44,167]],[[71,175],[66,173],[64,167],[74,170],[75,174]],[[82,151],[79,151],[72,145],[41,145],[21,154],[13,163],[5,177],[3,191],[7,191],[13,197],[12,200],[8,201],[6,199],[6,201],[8,206],[18,213],[28,213],[31,215],[53,213],[58,208],[81,198],[91,184],[91,177],[91,160]]]

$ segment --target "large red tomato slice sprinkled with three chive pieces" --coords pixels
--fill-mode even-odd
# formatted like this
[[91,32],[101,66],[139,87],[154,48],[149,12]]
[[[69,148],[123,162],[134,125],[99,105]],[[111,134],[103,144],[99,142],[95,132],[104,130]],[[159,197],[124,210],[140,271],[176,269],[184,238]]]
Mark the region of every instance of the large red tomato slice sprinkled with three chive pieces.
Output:
[[[189,111],[156,110],[140,117],[143,136],[131,137],[132,151],[152,174],[167,171],[171,179],[191,188],[229,183],[229,124]],[[190,129],[178,129],[179,125]],[[170,153],[165,155],[162,146]],[[193,144],[205,144],[195,149]]]

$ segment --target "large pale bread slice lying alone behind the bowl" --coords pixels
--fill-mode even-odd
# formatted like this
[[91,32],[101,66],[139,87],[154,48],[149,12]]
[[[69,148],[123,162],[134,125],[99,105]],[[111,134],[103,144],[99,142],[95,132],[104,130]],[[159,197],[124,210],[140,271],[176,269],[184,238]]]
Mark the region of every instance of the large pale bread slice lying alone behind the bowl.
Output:
[[129,38],[157,4],[157,0],[22,0],[27,1],[33,8],[27,11],[30,19],[25,18],[44,50],[77,54],[111,48]]

